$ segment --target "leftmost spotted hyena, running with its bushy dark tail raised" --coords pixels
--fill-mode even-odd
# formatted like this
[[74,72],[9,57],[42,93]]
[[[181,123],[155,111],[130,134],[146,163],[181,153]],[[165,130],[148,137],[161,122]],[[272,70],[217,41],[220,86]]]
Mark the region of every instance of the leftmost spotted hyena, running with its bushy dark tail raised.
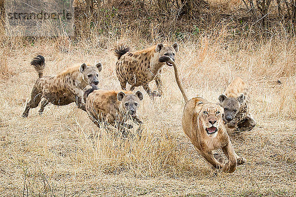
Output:
[[44,107],[48,103],[55,105],[67,105],[76,102],[77,107],[85,111],[82,90],[91,85],[97,88],[99,84],[99,72],[102,70],[102,64],[96,66],[72,66],[58,74],[43,76],[45,67],[44,57],[38,55],[31,65],[38,72],[37,79],[31,94],[31,100],[27,103],[23,117],[28,117],[29,110],[38,106],[41,102],[39,114],[43,113]]

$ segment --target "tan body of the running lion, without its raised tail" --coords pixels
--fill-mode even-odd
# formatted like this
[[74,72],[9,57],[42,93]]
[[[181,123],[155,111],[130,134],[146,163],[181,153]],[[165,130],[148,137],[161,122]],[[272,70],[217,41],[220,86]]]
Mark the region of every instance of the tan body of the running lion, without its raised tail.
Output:
[[[217,114],[217,112],[219,113]],[[191,143],[213,170],[221,168],[224,172],[231,173],[235,171],[237,164],[243,164],[246,160],[236,155],[223,125],[222,113],[223,109],[219,105],[209,103],[206,99],[199,97],[190,99],[184,107],[182,127]],[[216,122],[211,124],[210,121]],[[216,132],[208,134],[205,129],[213,125],[217,128]],[[214,158],[213,150],[220,148],[228,158],[226,164],[222,164]]]

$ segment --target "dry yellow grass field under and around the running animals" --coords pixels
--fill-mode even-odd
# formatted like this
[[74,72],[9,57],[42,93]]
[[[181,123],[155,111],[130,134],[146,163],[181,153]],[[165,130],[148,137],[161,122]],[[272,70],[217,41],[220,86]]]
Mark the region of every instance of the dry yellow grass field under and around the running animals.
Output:
[[[10,45],[0,50],[0,196],[296,196],[296,39],[228,42],[223,33],[179,42],[176,56],[189,98],[217,102],[235,76],[252,91],[258,125],[230,134],[235,151],[248,162],[216,176],[182,131],[185,103],[172,67],[163,68],[163,97],[151,100],[144,94],[143,137],[122,139],[116,130],[95,127],[74,104],[48,105],[42,116],[35,108],[21,118],[37,79],[32,58],[45,57],[45,75],[100,61],[99,86],[119,89],[116,41],[99,48],[105,39],[99,36],[78,43],[9,38]],[[152,44],[132,35],[118,42],[134,49]],[[144,93],[142,87],[136,90]]]

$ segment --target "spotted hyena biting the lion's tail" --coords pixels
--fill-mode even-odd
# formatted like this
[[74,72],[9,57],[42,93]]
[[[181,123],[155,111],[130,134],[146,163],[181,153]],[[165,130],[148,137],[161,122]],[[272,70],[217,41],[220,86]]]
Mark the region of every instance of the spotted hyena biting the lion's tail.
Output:
[[[126,83],[131,85],[131,91],[135,87],[143,86],[151,98],[160,97],[162,95],[161,67],[165,64],[173,65],[169,62],[161,63],[158,60],[161,56],[169,56],[174,61],[175,53],[178,51],[178,43],[172,46],[157,44],[139,51],[129,51],[128,47],[119,46],[115,49],[115,55],[118,58],[116,75],[121,88],[126,90]],[[150,90],[148,83],[152,80],[155,80],[158,92]]]

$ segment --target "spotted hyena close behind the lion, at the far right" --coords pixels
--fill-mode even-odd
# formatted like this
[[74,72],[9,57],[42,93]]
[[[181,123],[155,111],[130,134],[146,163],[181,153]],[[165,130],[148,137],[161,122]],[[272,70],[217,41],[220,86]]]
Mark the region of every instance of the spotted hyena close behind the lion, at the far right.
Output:
[[229,129],[250,131],[256,126],[256,121],[249,112],[249,88],[246,83],[236,77],[219,97],[224,109],[223,121]]

